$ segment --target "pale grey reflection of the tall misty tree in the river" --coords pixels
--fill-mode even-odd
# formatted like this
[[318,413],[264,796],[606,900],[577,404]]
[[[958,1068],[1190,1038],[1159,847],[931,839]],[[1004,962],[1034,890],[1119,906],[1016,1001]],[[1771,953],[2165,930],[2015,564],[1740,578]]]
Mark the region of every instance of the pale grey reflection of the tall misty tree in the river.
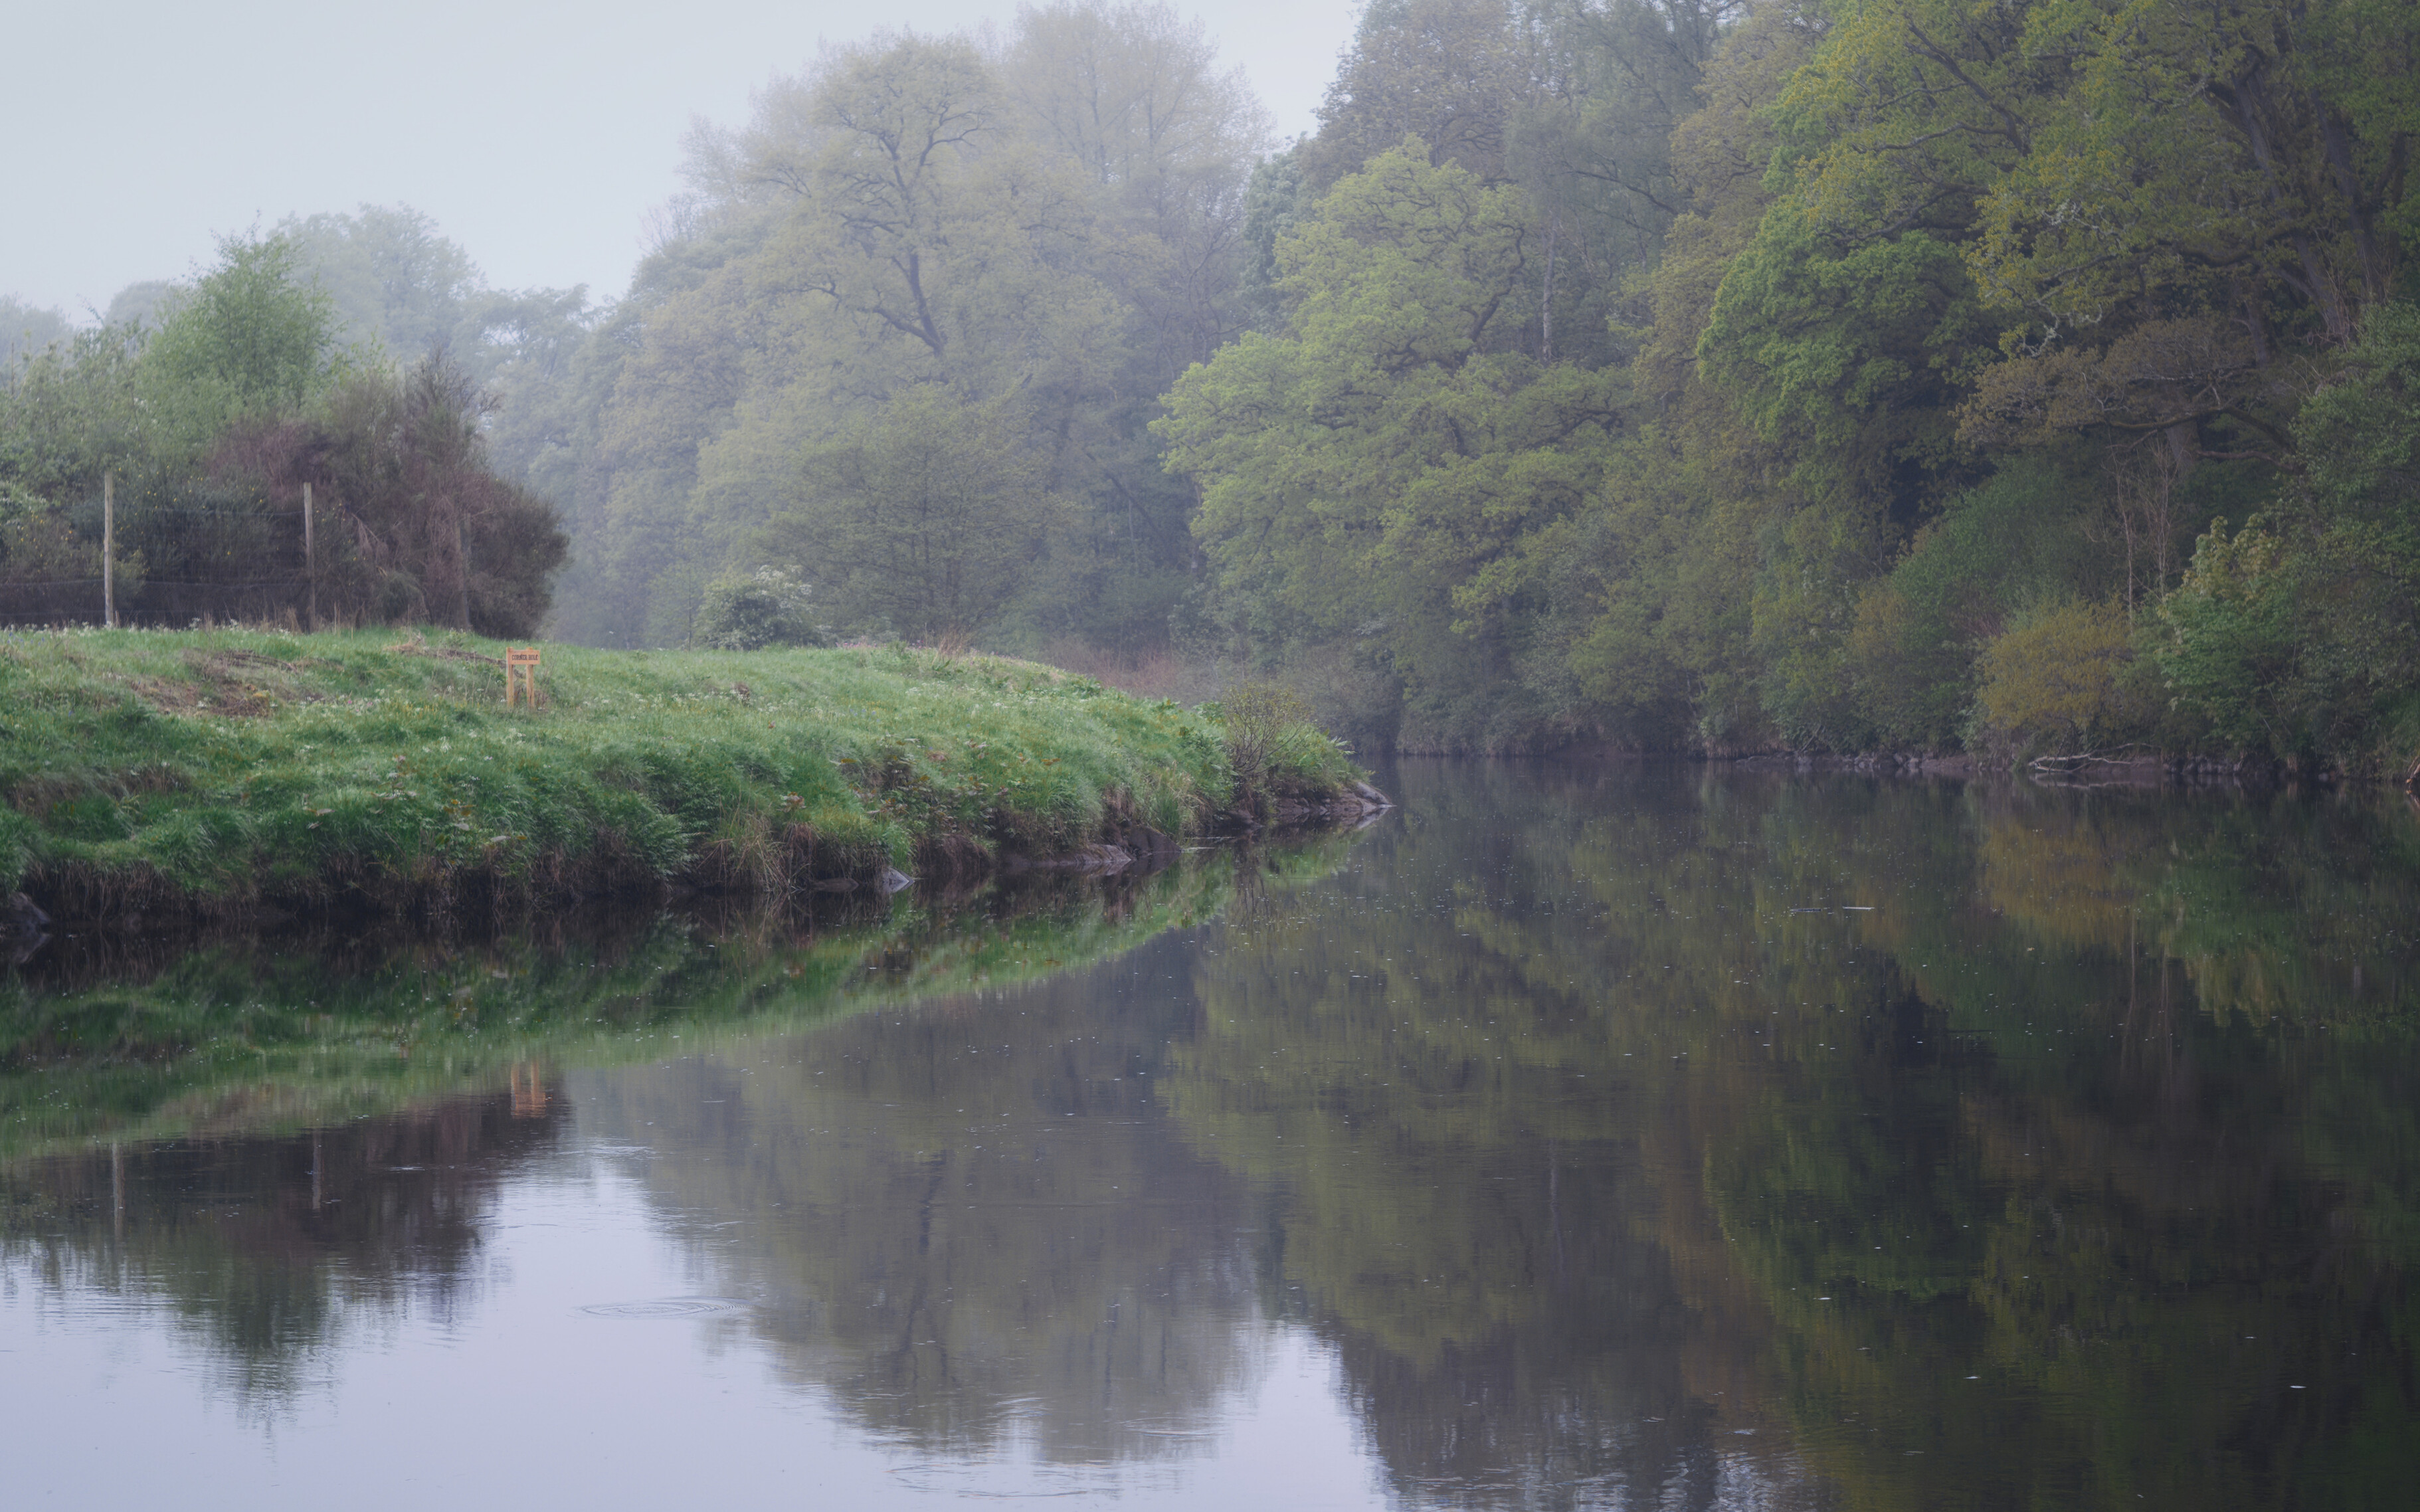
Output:
[[[593,1130],[791,1379],[883,1439],[1186,1452],[1246,1374],[1249,1193],[1154,1110],[1181,941],[1094,989],[992,992],[600,1079]],[[583,1103],[588,1106],[588,1103]],[[748,1229],[745,1246],[716,1239]]]

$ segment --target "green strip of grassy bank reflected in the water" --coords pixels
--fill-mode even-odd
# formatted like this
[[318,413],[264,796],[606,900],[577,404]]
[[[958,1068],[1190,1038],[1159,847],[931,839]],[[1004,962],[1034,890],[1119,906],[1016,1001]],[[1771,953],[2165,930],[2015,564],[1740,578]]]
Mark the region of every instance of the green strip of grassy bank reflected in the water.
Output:
[[[1333,866],[1321,837],[1251,868]],[[629,1062],[874,1004],[1048,977],[1215,914],[1237,859],[978,898],[595,910],[443,934],[341,924],[68,936],[0,977],[0,1161],[92,1139],[305,1127],[530,1062]],[[511,927],[506,927],[511,924]]]

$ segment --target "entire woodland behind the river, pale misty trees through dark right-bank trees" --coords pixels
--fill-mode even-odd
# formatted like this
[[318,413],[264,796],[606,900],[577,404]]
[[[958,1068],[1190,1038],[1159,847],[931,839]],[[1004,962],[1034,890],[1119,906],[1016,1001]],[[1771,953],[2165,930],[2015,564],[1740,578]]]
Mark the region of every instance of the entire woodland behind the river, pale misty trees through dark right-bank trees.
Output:
[[566,639],[777,569],[1370,745],[2401,774],[2415,51],[2393,0],[1375,0],[1270,152],[1198,27],[1060,0],[699,126],[612,305],[281,232],[503,394]]

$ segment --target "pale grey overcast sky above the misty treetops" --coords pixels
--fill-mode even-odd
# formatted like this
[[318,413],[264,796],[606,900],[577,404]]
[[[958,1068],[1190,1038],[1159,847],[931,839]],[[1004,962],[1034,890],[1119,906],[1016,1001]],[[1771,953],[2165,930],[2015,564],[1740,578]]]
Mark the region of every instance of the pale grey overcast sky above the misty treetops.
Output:
[[[1312,111],[1355,0],[1171,0],[1244,65],[1278,133]],[[87,322],[218,237],[286,215],[411,206],[496,288],[620,295],[692,116],[820,41],[876,27],[1007,27],[1016,0],[82,0],[10,17],[0,295]]]

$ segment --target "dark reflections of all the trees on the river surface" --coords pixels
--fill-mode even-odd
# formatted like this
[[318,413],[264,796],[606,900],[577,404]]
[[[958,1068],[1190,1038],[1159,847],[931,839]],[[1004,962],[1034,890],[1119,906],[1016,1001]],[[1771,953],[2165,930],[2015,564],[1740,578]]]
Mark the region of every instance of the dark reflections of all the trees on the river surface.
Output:
[[[1392,779],[1401,823],[1152,883],[1183,902],[1060,885],[859,941],[806,975],[859,1011],[813,1031],[714,1009],[704,1052],[564,1057],[537,1118],[499,1089],[317,1135],[450,1118],[453,1185],[186,1142],[121,1176],[184,1207],[119,1224],[94,1152],[15,1168],[10,1243],[273,1381],[334,1304],[460,1306],[482,1202],[576,1142],[786,1379],[966,1461],[1212,1454],[1290,1328],[1413,1505],[2398,1505],[2410,815]],[[845,982],[893,956],[920,992]],[[346,1159],[358,1234],[298,1195]]]

